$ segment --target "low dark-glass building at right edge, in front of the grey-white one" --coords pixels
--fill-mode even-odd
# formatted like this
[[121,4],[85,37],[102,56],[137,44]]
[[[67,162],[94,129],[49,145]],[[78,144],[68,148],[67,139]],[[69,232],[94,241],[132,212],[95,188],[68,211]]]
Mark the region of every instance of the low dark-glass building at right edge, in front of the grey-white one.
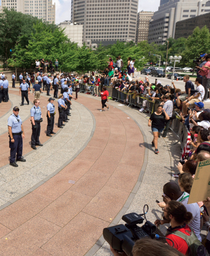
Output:
[[187,38],[189,35],[193,34],[193,30],[196,28],[196,26],[203,28],[205,25],[210,31],[210,13],[176,22],[175,39],[179,37]]

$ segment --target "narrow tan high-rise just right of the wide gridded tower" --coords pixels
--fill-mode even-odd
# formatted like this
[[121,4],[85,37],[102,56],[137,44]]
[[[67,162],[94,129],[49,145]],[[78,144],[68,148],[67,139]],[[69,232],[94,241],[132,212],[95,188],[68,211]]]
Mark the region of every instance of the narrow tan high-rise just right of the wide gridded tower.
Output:
[[153,14],[152,11],[140,11],[137,14],[136,43],[148,41],[149,20]]

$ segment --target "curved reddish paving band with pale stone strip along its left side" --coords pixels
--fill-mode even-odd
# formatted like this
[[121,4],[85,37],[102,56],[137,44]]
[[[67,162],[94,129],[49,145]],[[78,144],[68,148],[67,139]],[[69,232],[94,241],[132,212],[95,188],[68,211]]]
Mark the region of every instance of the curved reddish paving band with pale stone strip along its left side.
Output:
[[124,207],[143,165],[143,136],[125,112],[100,105],[80,97],[64,129],[17,171],[2,167],[2,200],[12,204],[0,212],[0,255],[85,255]]

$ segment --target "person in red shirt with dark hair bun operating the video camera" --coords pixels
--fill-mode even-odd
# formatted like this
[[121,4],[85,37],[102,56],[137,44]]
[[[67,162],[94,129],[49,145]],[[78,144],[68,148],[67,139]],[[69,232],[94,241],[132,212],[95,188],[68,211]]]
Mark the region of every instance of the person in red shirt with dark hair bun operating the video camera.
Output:
[[[174,248],[178,249],[179,252],[181,252],[184,255],[188,255],[189,248],[187,242],[185,242],[184,239],[182,239],[179,236],[176,236],[176,234],[173,234],[173,231],[180,231],[187,236],[190,236],[191,229],[187,225],[193,218],[193,215],[190,212],[187,212],[187,209],[185,206],[178,202],[178,201],[169,201],[169,203],[166,204],[166,206],[163,208],[164,211],[164,217],[163,219],[170,221],[170,227],[167,230],[166,237],[168,239],[171,239],[172,241],[167,239],[167,243],[169,243],[170,246],[173,246]],[[155,225],[160,225],[161,221],[157,220],[155,221]]]

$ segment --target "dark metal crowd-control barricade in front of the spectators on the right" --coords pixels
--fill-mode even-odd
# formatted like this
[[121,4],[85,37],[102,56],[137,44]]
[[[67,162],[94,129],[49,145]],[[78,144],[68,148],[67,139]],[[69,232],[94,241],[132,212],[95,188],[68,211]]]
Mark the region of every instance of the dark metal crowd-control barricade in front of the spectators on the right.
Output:
[[[157,111],[157,106],[160,105],[158,100],[149,100],[148,97],[140,96],[136,93],[124,93],[124,91],[119,91],[113,87],[106,87],[107,91],[109,91],[109,97],[111,97],[116,102],[122,102],[127,106],[134,106],[137,108],[142,108],[144,106],[143,112],[148,112],[152,114],[154,111]],[[101,87],[100,87],[101,90]],[[86,86],[84,84],[80,85],[80,92],[85,92]],[[144,104],[143,104],[144,102]],[[181,144],[182,150],[184,150],[185,144],[187,142],[188,129],[181,122],[181,118],[176,113],[176,118],[171,121],[170,130],[176,135],[178,142]],[[176,144],[175,143],[175,144]]]

